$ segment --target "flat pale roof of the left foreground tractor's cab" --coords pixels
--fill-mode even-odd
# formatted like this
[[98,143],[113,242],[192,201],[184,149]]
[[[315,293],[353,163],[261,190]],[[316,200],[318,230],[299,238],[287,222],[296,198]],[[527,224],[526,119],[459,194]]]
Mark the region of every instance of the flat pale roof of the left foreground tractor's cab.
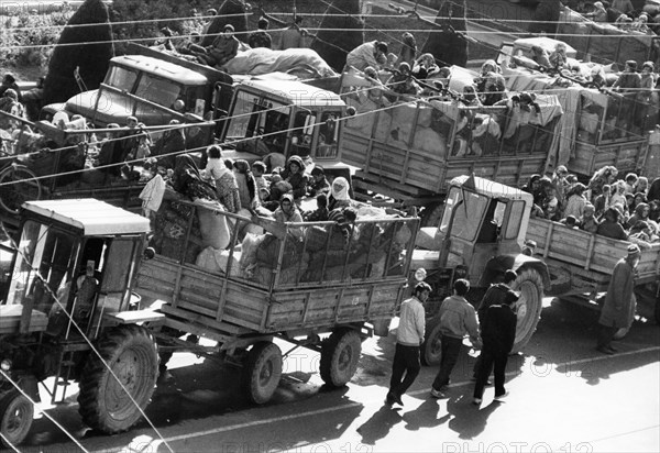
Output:
[[94,198],[25,201],[22,208],[82,230],[86,236],[148,233],[148,219]]

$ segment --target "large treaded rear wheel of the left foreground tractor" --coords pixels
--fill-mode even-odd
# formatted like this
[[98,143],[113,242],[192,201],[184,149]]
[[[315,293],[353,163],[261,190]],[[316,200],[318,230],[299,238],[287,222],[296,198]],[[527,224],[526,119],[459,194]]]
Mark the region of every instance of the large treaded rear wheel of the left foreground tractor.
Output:
[[110,330],[97,350],[102,360],[94,354],[85,364],[78,411],[90,428],[113,434],[131,428],[148,404],[158,377],[158,351],[148,330],[139,325]]

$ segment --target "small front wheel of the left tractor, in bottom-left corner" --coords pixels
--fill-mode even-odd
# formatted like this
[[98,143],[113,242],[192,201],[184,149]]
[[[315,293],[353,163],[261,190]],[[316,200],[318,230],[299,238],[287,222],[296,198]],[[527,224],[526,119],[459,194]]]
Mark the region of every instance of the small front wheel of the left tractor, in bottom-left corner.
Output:
[[0,432],[2,432],[0,443],[2,446],[15,450],[32,428],[34,406],[20,391],[10,391],[0,400]]

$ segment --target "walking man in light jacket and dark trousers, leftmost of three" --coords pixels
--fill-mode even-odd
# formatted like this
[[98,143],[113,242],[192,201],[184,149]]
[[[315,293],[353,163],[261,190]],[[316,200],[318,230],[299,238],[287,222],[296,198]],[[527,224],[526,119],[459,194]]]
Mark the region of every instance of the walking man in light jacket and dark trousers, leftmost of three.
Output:
[[[424,302],[429,298],[431,286],[420,281],[415,286],[415,295],[402,302],[399,325],[396,331],[396,351],[392,362],[392,378],[385,402],[404,406],[402,395],[413,385],[421,364],[419,346],[424,343],[426,325]],[[405,374],[405,376],[404,376]]]

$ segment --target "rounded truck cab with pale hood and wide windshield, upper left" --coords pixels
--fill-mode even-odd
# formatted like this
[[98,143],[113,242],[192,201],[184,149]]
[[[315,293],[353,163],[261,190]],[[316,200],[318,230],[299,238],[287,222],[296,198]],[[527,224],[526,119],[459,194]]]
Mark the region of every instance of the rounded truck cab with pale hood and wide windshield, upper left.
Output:
[[110,60],[98,89],[44,107],[40,119],[50,121],[58,111],[80,114],[97,126],[123,125],[128,117],[146,125],[217,119],[227,109],[232,84],[231,76],[215,68],[131,44],[127,55]]

